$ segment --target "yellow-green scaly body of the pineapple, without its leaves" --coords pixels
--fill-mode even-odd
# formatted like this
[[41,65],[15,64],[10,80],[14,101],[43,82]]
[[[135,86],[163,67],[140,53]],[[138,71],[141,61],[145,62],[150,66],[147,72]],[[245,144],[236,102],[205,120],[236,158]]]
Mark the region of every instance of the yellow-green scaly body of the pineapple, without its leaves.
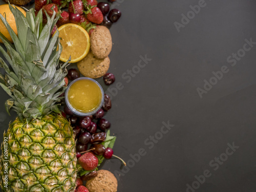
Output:
[[[75,135],[67,119],[51,113],[30,122],[16,118],[2,145],[0,165],[3,191],[73,192],[76,188]],[[4,141],[5,142],[5,141]],[[5,145],[4,145],[5,144]],[[5,165],[8,162],[8,185]]]

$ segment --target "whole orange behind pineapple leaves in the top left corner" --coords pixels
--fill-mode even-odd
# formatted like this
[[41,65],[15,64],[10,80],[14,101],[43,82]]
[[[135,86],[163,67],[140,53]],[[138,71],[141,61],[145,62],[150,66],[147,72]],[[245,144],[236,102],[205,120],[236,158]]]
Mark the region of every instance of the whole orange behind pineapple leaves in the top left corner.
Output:
[[[13,6],[14,7],[14,6]],[[25,16],[26,16],[26,11],[24,11],[22,8],[16,6],[16,8],[18,10],[20,10]],[[9,8],[8,4],[4,4],[4,5],[0,5],[0,14],[2,14],[4,17],[4,13],[6,14],[6,20],[9,23],[9,25],[11,26],[12,30],[16,33],[17,35],[17,27],[16,27],[16,23],[15,23],[15,18]],[[0,32],[11,42],[12,38],[11,35],[9,34],[8,30],[6,29],[4,23],[2,22],[2,20],[0,19]],[[0,39],[0,42],[3,43],[3,41]]]

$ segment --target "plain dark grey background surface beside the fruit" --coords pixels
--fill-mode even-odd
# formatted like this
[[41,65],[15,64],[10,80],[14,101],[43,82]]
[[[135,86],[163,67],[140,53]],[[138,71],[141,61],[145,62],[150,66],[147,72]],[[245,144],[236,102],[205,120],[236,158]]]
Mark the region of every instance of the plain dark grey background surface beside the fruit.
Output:
[[[122,90],[113,97],[105,118],[117,136],[116,155],[129,161],[140,148],[146,151],[132,167],[130,160],[130,170],[118,177],[118,191],[183,192],[207,169],[211,176],[195,191],[256,189],[256,46],[236,66],[227,62],[229,55],[243,48],[245,39],[256,42],[256,2],[206,0],[206,6],[178,32],[174,22],[181,23],[181,14],[198,2],[120,0],[115,7],[122,17],[111,28],[109,72],[116,82],[110,89],[119,82]],[[126,82],[122,74],[145,55],[152,60]],[[222,66],[229,72],[200,98],[197,88],[203,89],[204,79],[209,81]],[[1,132],[15,117],[5,111],[6,99],[1,89]],[[148,148],[145,140],[160,131],[163,121],[174,127]],[[209,162],[233,142],[237,151],[214,170]],[[102,168],[122,173],[123,167],[111,159]]]

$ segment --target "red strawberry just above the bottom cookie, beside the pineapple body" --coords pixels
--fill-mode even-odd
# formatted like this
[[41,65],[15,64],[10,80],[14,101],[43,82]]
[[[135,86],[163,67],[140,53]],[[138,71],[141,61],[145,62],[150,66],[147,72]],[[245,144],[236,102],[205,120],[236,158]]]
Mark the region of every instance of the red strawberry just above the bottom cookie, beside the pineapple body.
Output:
[[78,162],[83,169],[93,170],[98,165],[98,158],[92,152],[87,152],[78,159]]

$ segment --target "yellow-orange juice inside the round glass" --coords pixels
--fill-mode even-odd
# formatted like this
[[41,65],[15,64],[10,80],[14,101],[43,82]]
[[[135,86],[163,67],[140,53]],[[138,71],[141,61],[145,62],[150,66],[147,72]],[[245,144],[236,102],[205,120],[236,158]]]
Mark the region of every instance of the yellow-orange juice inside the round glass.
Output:
[[69,103],[82,113],[94,111],[101,103],[102,92],[98,84],[89,79],[80,79],[68,90]]

